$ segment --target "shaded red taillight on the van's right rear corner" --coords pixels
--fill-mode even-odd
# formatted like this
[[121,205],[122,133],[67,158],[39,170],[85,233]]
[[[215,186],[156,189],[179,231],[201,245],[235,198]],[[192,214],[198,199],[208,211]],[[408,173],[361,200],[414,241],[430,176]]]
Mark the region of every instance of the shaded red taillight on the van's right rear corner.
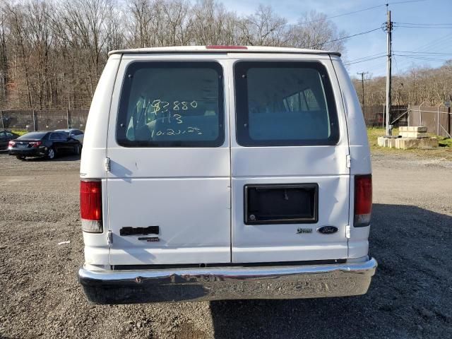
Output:
[[355,175],[355,227],[370,225],[372,213],[372,176]]

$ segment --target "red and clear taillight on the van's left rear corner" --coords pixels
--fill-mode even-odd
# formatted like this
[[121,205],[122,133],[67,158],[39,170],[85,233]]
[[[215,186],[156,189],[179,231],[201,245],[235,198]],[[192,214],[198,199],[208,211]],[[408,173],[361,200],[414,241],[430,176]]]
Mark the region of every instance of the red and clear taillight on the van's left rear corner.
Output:
[[80,214],[85,232],[102,233],[101,185],[100,181],[80,182]]

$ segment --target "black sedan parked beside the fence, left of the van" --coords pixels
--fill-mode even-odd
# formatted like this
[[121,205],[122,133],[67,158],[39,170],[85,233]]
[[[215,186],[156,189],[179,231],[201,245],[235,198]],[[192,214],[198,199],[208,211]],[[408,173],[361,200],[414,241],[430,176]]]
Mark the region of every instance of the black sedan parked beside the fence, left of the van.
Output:
[[20,160],[25,157],[53,159],[64,153],[80,154],[82,145],[64,132],[30,132],[9,142],[9,155]]

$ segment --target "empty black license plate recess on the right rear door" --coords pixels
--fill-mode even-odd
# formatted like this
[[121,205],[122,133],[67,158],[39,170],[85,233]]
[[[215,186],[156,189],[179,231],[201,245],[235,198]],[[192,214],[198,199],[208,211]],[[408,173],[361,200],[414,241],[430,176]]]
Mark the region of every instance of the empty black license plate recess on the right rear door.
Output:
[[244,186],[246,225],[311,224],[318,221],[318,184]]

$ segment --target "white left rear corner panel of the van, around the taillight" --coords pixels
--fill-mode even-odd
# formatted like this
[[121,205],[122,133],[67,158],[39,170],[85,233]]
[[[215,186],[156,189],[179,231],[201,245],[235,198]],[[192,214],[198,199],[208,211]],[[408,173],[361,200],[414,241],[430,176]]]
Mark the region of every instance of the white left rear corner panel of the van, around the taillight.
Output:
[[102,194],[103,232],[83,232],[85,263],[91,265],[109,265],[107,172],[105,172],[104,163],[107,155],[107,121],[114,79],[117,76],[120,61],[120,55],[109,57],[99,83],[97,83],[86,126],[83,126],[85,138],[81,154],[80,177],[81,179],[102,180],[102,191],[104,192]]

